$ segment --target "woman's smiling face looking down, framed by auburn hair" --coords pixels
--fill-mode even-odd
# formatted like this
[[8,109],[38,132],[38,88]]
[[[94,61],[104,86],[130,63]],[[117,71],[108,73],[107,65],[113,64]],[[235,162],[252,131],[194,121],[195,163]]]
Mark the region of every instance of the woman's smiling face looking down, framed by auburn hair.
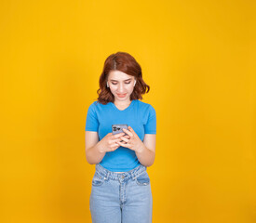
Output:
[[108,84],[115,101],[129,101],[134,88],[135,78],[125,72],[111,71],[108,75]]

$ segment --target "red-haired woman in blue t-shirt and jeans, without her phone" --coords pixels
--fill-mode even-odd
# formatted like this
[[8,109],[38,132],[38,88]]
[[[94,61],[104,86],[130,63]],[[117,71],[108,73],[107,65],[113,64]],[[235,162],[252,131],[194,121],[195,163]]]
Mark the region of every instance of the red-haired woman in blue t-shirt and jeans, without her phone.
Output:
[[[152,222],[153,198],[146,168],[155,161],[155,109],[141,66],[128,53],[104,62],[99,98],[88,108],[86,156],[96,164],[89,198],[93,223]],[[128,125],[113,134],[112,125]]]

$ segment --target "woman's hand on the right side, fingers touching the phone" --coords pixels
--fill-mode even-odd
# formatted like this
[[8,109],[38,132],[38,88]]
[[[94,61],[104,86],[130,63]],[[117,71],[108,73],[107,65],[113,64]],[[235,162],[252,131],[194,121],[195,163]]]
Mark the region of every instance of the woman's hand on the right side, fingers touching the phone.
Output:
[[143,142],[141,141],[141,138],[139,138],[138,135],[134,132],[134,130],[130,126],[128,126],[128,130],[123,128],[123,131],[126,134],[128,134],[128,136],[121,137],[123,142],[116,142],[116,143],[132,151],[141,151],[143,148]]

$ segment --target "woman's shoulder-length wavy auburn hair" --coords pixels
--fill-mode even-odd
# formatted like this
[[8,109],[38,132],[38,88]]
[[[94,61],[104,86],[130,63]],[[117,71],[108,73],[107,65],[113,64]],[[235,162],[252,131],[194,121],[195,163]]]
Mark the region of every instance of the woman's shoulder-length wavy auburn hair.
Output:
[[143,94],[148,93],[150,86],[142,79],[142,72],[140,64],[131,55],[126,52],[117,52],[111,54],[104,62],[103,71],[100,77],[100,88],[97,90],[99,95],[98,102],[101,104],[107,104],[115,100],[109,87],[107,87],[108,74],[111,71],[125,72],[128,75],[134,76],[136,79],[136,85],[130,95],[130,100],[142,99]]

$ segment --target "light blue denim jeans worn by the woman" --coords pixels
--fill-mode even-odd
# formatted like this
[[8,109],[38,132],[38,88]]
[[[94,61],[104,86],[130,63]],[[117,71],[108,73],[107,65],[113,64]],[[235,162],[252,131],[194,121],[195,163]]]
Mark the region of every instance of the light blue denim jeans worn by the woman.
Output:
[[96,164],[89,197],[92,223],[151,223],[152,207],[146,166],[116,173]]

